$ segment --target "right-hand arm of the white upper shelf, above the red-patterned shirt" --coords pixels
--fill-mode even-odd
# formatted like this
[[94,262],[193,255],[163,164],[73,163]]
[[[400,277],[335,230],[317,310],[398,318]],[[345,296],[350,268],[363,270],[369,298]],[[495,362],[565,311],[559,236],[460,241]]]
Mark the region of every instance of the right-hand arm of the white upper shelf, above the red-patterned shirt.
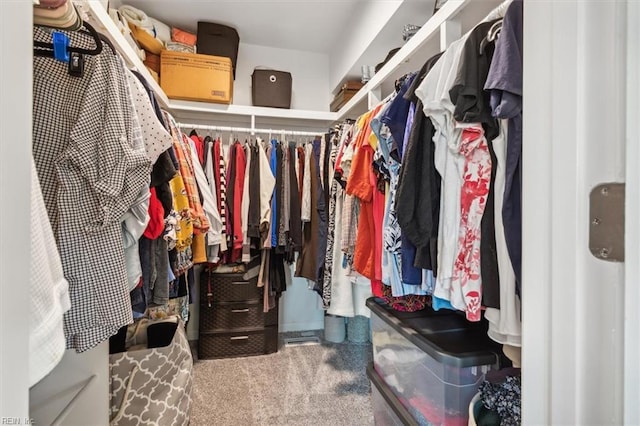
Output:
[[501,0],[448,0],[420,30],[337,112],[338,120],[356,118],[369,108],[369,94],[382,90],[384,97],[393,90],[394,81],[417,71],[431,56],[441,51],[440,28],[447,21],[460,23],[462,33],[482,21]]

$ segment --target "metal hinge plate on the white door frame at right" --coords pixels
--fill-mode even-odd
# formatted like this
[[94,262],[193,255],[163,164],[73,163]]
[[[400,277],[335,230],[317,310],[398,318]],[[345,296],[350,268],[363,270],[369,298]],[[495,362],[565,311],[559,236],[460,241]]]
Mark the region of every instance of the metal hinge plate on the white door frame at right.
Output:
[[624,262],[624,183],[602,183],[589,196],[589,250],[600,260]]

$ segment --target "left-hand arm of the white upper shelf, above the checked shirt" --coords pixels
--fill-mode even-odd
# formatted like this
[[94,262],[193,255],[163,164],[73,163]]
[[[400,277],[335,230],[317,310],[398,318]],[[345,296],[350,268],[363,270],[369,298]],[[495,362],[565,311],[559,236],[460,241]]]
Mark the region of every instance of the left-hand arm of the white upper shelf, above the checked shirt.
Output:
[[86,8],[83,7],[83,9],[86,9],[93,18],[90,22],[96,26],[96,30],[103,33],[109,38],[109,40],[111,40],[116,50],[125,59],[125,61],[128,62],[128,65],[140,72],[145,80],[147,80],[160,104],[162,104],[163,107],[168,108],[169,98],[167,98],[167,95],[165,95],[164,91],[160,88],[160,85],[153,79],[147,70],[147,67],[144,66],[131,45],[129,45],[127,40],[120,33],[118,27],[116,27],[116,24],[105,10],[102,2],[100,0],[84,0],[77,3],[81,7],[86,5]]

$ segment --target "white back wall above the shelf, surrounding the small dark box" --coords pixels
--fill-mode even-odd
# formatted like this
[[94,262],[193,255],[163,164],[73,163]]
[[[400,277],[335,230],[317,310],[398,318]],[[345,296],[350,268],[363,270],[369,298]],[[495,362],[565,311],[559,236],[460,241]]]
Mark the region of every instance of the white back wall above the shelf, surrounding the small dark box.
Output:
[[292,109],[329,111],[329,56],[300,50],[240,43],[233,103],[251,105],[251,74],[256,67],[292,75]]

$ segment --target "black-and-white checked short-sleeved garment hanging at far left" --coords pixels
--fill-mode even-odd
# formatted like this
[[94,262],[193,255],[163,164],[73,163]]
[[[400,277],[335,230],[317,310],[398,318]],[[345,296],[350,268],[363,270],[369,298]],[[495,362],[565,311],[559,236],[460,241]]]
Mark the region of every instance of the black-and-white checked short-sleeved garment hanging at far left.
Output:
[[[67,35],[93,46],[80,32]],[[50,34],[35,27],[33,37],[48,42]],[[151,161],[136,149],[143,142],[124,68],[109,49],[85,63],[83,77],[33,58],[33,155],[69,282],[66,346],[78,352],[133,320],[120,220],[149,187]]]

